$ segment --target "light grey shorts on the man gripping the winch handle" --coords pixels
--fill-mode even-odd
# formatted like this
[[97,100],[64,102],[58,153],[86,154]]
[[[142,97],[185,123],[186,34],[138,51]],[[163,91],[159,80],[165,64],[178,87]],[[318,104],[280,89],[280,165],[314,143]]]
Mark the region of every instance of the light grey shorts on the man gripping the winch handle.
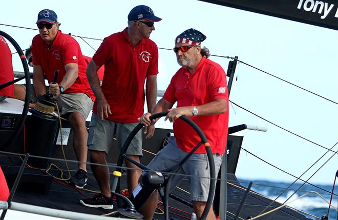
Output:
[[94,102],[85,93],[67,93],[57,96],[57,106],[61,115],[79,112],[86,120],[93,105]]

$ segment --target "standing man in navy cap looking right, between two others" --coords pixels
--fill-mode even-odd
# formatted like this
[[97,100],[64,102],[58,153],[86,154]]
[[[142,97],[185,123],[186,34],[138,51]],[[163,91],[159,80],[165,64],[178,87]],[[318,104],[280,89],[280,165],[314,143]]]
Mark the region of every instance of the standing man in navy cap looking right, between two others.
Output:
[[[88,147],[91,162],[107,165],[105,156],[117,140],[121,148],[130,132],[137,126],[143,113],[144,83],[147,111],[156,104],[158,73],[158,48],[149,39],[155,30],[154,23],[161,21],[153,10],[144,5],[133,8],[128,15],[128,27],[103,39],[101,46],[88,65],[89,83],[96,96],[90,124]],[[104,65],[102,86],[97,70]],[[152,134],[154,126],[145,131]],[[113,138],[114,137],[114,138]],[[142,134],[139,132],[126,151],[126,155],[139,162],[142,156]],[[128,189],[132,192],[138,184],[141,171],[126,161]],[[89,207],[113,208],[107,166],[91,165],[101,193],[93,198],[81,199]]]

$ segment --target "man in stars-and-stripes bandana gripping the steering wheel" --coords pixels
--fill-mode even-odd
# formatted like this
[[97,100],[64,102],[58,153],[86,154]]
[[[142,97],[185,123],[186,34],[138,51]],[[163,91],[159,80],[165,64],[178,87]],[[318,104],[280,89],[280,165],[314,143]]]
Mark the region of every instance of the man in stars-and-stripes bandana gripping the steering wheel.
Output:
[[[177,62],[182,66],[171,79],[163,98],[155,106],[152,114],[168,111],[165,120],[173,123],[175,137],[168,138],[168,144],[157,153],[148,167],[163,170],[178,164],[199,142],[200,137],[187,123],[178,119],[185,115],[192,119],[205,134],[213,152],[215,171],[218,173],[225,152],[228,132],[228,90],[226,74],[222,67],[208,59],[209,50],[201,48],[206,36],[195,29],[188,29],[175,38]],[[173,108],[177,102],[177,107]],[[151,113],[145,113],[139,122],[146,127],[153,126]],[[198,218],[207,201],[209,191],[209,166],[206,151],[200,147],[178,172],[189,175],[191,200]],[[196,177],[199,176],[199,177]],[[200,178],[202,177],[202,178]],[[181,181],[178,175],[173,187]],[[156,209],[158,194],[153,193],[140,212],[144,219],[152,219]],[[210,208],[206,219],[215,219]]]

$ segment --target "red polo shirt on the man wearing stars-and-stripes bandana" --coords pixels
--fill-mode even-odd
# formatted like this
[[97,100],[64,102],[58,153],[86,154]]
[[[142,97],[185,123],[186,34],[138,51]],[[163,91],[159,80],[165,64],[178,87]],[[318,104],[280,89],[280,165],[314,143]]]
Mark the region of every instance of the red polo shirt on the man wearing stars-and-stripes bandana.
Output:
[[[228,101],[225,72],[219,64],[203,57],[192,76],[183,67],[176,72],[163,98],[170,103],[177,102],[177,107],[199,106],[212,102],[215,98]],[[227,102],[227,111],[223,114],[190,117],[203,131],[213,153],[225,152],[228,109]],[[174,133],[177,145],[186,152],[191,151],[201,141],[196,131],[182,120],[175,121]],[[196,153],[206,153],[205,148],[199,147]]]

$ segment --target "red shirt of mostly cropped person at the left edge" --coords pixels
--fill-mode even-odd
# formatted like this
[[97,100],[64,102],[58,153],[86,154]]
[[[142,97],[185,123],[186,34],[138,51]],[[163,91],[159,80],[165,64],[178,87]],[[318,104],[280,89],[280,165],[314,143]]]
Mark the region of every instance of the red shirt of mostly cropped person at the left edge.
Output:
[[[5,37],[0,35],[0,85],[14,79],[12,53],[8,47]],[[14,85],[0,90],[0,95],[14,96]]]

